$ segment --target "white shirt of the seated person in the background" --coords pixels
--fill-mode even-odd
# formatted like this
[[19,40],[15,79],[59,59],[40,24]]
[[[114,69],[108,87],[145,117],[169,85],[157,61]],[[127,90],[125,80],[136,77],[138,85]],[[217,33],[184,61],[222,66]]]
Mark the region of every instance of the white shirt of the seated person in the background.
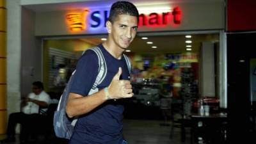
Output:
[[[29,93],[28,98],[44,101],[48,105],[51,103],[50,96],[44,91],[42,91],[39,95],[36,95],[35,93]],[[46,112],[47,108],[42,110]],[[28,104],[22,108],[22,112],[26,114],[39,113],[39,106],[34,102],[28,102]]]

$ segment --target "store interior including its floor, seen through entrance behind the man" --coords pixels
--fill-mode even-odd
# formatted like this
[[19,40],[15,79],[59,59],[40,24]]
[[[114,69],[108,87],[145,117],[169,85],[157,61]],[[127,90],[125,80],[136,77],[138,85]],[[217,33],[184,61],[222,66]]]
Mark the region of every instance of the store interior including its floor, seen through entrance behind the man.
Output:
[[[220,33],[188,33],[138,33],[129,51],[125,51],[132,61],[134,92],[134,97],[124,100],[127,140],[189,143],[190,127],[180,129],[180,118],[197,113],[202,97],[211,100],[207,103],[210,113],[218,111]],[[44,38],[45,91],[61,94],[83,51],[106,38],[107,35]],[[140,136],[145,138],[141,140]]]

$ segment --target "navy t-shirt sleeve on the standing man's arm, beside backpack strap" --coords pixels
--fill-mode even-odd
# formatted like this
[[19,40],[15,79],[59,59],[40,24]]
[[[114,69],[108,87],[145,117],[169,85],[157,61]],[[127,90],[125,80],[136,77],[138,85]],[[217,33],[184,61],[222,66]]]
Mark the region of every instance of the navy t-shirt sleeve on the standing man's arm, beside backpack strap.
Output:
[[88,95],[98,74],[98,61],[97,55],[92,50],[84,52],[77,62],[76,72],[72,77],[71,93]]

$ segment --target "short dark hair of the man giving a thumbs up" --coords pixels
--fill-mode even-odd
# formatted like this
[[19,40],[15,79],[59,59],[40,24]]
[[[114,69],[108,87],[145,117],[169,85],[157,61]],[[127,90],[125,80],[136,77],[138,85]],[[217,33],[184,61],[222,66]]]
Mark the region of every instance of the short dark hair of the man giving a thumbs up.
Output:
[[112,4],[108,20],[113,23],[118,15],[131,15],[137,17],[139,22],[139,12],[129,1],[117,1]]

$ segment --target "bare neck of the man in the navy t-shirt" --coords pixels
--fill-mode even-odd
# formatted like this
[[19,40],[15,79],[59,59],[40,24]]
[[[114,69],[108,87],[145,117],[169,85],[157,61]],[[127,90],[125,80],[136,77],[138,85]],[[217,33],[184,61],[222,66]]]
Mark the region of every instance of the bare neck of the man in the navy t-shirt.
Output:
[[111,44],[108,40],[104,42],[103,47],[112,55],[114,58],[120,60],[122,58],[122,54],[124,52],[123,49],[116,47],[116,45]]

